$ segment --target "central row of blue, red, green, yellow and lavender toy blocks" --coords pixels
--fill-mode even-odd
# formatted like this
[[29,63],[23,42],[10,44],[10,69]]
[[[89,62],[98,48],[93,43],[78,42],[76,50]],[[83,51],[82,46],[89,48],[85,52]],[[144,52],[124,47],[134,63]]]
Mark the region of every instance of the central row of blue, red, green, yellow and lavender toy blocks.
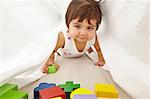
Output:
[[119,95],[112,84],[96,84],[95,92],[92,92],[67,81],[57,86],[55,83],[40,83],[34,88],[34,99],[119,99]]

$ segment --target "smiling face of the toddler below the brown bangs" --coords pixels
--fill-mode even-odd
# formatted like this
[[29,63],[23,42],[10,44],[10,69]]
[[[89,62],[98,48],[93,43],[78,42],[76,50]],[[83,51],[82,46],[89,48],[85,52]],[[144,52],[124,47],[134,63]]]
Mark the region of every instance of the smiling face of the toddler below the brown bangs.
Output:
[[91,19],[90,22],[87,19],[82,22],[78,22],[78,20],[79,18],[76,18],[69,23],[70,36],[79,42],[86,42],[95,37],[96,20]]

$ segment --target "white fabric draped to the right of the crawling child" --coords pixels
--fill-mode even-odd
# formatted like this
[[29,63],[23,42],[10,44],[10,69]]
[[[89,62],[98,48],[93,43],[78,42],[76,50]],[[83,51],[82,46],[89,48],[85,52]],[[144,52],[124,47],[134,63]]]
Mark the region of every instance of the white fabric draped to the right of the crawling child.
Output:
[[135,99],[149,98],[149,5],[144,0],[103,3],[105,30],[101,39],[107,65],[114,81]]

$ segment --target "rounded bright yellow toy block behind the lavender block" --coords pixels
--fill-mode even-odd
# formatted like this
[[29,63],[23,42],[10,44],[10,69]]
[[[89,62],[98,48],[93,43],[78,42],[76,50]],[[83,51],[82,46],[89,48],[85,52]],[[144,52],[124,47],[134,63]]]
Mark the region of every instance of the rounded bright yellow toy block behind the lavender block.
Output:
[[73,96],[75,94],[78,94],[78,95],[91,95],[91,94],[94,94],[91,90],[88,90],[86,88],[78,88],[78,89],[75,89],[74,91],[71,92],[70,94],[70,99],[73,99]]

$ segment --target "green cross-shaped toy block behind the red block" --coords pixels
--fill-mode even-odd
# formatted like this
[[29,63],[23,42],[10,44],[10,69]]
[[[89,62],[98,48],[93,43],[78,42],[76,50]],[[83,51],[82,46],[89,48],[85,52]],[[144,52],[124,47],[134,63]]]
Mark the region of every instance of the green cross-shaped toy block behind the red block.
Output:
[[73,81],[67,81],[66,84],[59,84],[58,86],[64,90],[67,99],[70,99],[70,93],[73,90],[80,88],[80,84],[73,84]]

